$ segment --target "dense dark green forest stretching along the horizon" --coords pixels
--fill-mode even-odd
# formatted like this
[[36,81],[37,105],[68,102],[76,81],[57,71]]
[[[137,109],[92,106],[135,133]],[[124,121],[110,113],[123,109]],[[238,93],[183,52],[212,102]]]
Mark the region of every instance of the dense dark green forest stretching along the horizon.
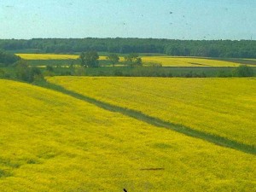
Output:
[[256,58],[252,40],[172,40],[157,38],[32,38],[2,39],[0,49],[32,53],[160,53],[177,56]]

